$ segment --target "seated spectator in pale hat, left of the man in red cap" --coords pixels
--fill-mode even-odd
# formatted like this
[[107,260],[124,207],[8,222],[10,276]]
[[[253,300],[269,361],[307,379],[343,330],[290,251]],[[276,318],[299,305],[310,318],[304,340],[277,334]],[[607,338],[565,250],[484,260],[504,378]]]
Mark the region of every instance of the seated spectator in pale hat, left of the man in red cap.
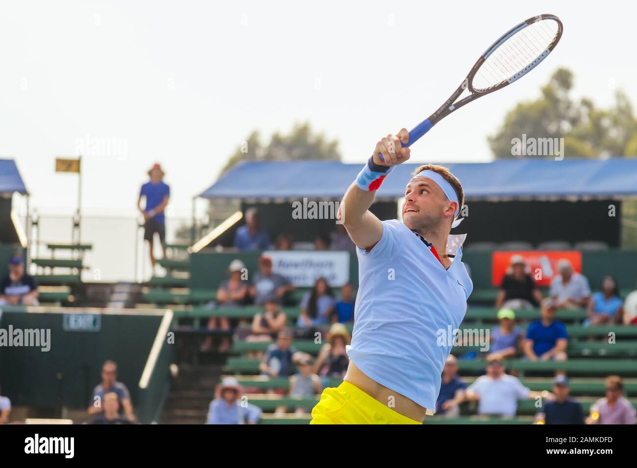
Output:
[[[229,278],[223,281],[217,290],[217,306],[234,308],[243,305],[248,297],[247,281],[242,280],[242,274],[245,273],[245,265],[241,260],[236,259],[230,262],[228,268]],[[208,304],[211,306],[212,304]],[[208,319],[208,330],[230,330],[230,320],[227,317],[211,316]],[[231,347],[230,337],[224,336],[218,352],[225,353]],[[201,344],[200,351],[206,352],[212,349],[212,337],[208,336]]]

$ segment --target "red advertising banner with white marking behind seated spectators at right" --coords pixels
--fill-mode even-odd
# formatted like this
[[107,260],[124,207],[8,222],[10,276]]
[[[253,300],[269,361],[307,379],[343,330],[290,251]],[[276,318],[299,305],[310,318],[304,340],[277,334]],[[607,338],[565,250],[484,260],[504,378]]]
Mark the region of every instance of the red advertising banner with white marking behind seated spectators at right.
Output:
[[526,263],[527,272],[537,285],[548,286],[557,271],[557,262],[561,259],[570,260],[573,270],[582,273],[582,253],[576,251],[543,251],[529,250],[526,252],[494,252],[491,259],[491,281],[494,286],[502,284],[502,280],[508,268],[511,266],[511,257],[522,255]]

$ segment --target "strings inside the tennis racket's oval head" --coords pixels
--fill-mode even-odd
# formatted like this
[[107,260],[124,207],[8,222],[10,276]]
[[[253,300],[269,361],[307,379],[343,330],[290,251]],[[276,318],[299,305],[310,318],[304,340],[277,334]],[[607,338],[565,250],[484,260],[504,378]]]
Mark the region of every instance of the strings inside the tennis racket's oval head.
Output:
[[538,20],[500,44],[476,71],[475,90],[488,90],[513,78],[541,57],[559,33],[555,20]]

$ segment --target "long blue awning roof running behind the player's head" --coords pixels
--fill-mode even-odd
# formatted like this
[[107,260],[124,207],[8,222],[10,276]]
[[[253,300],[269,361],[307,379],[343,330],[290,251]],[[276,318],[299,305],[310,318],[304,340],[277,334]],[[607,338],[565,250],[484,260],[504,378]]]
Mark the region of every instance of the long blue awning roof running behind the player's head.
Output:
[[[637,196],[636,159],[511,159],[441,163],[462,182],[468,199]],[[377,196],[399,198],[420,164],[401,164]],[[262,161],[233,167],[200,196],[204,198],[340,199],[362,164],[338,161]]]

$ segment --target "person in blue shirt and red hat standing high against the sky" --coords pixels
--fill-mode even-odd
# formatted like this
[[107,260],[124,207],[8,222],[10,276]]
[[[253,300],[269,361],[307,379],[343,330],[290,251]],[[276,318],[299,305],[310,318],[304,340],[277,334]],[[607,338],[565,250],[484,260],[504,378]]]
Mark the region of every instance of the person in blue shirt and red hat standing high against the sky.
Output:
[[[150,264],[155,270],[154,236],[159,235],[162,253],[166,257],[166,216],[164,209],[168,205],[170,187],[163,181],[164,171],[159,164],[155,164],[148,171],[150,181],[141,186],[137,206],[144,216],[144,239],[148,241],[150,250]],[[145,207],[141,208],[141,197],[145,198]]]

